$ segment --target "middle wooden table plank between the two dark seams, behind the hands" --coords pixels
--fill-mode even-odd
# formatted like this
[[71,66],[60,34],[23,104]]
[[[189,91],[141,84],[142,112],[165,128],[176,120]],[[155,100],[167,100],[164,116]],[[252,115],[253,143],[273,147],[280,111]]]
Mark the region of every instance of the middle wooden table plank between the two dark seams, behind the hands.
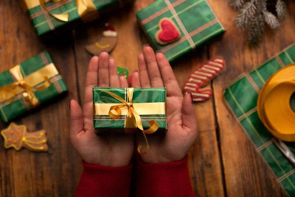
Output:
[[[127,11],[120,11],[108,18],[118,32],[118,45],[112,52],[118,66],[127,67],[129,71],[137,69],[137,56],[142,46],[148,43],[145,34],[138,26],[135,14],[148,6],[153,0],[137,0]],[[99,33],[103,31],[104,18],[84,29],[75,31],[75,50],[77,54],[78,79],[80,95],[84,95],[85,76],[91,56],[86,53],[84,46],[94,43]],[[182,87],[186,77],[201,63],[206,62],[206,54],[201,50],[173,64],[177,80]],[[192,56],[194,58],[192,58]],[[189,58],[188,58],[189,57]],[[188,60],[185,60],[188,59]],[[214,112],[211,101],[195,104],[199,123],[200,136],[189,152],[189,172],[193,189],[199,197],[222,197],[222,173],[220,167],[219,150],[215,131]]]

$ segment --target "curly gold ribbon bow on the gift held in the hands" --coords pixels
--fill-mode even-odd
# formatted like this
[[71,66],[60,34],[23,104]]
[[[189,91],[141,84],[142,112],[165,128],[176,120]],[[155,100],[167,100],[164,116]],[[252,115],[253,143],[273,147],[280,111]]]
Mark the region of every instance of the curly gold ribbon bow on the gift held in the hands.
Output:
[[127,112],[126,122],[125,122],[125,129],[138,128],[143,132],[145,139],[146,139],[147,148],[142,153],[141,152],[142,145],[139,145],[137,148],[137,152],[140,153],[141,155],[145,155],[149,151],[148,139],[147,139],[146,133],[151,134],[151,133],[157,131],[159,128],[159,125],[158,125],[158,123],[156,123],[156,121],[151,120],[148,122],[149,129],[144,130],[143,125],[142,125],[142,121],[141,121],[141,117],[133,107],[133,102],[132,102],[133,91],[134,91],[134,88],[127,88],[127,96],[128,96],[129,102],[125,101],[124,99],[120,98],[119,96],[117,96],[113,93],[110,93],[108,91],[101,91],[101,92],[105,92],[123,103],[123,104],[111,106],[111,108],[109,110],[109,116],[111,118],[118,119],[122,113],[120,108],[128,107],[128,112]]

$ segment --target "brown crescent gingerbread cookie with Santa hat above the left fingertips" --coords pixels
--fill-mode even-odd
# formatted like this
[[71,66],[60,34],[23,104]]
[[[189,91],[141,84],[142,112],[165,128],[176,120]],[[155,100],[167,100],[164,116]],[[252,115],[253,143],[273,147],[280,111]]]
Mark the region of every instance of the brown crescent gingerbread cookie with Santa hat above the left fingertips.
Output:
[[85,46],[85,49],[92,55],[99,55],[103,51],[110,53],[117,44],[118,33],[108,23],[105,24],[105,31],[99,35],[97,42]]

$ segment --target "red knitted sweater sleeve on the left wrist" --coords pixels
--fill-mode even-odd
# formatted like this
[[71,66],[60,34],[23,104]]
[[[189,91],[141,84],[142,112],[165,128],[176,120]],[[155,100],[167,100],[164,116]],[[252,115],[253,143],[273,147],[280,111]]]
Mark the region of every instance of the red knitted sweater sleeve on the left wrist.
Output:
[[108,167],[83,162],[76,197],[129,197],[132,164]]

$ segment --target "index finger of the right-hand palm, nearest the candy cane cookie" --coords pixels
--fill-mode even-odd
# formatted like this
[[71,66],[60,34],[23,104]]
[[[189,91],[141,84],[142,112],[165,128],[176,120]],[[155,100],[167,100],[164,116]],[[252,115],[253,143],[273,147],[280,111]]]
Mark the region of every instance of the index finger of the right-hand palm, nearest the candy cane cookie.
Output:
[[182,97],[181,89],[178,85],[173,69],[163,53],[156,54],[156,60],[159,65],[167,96]]

